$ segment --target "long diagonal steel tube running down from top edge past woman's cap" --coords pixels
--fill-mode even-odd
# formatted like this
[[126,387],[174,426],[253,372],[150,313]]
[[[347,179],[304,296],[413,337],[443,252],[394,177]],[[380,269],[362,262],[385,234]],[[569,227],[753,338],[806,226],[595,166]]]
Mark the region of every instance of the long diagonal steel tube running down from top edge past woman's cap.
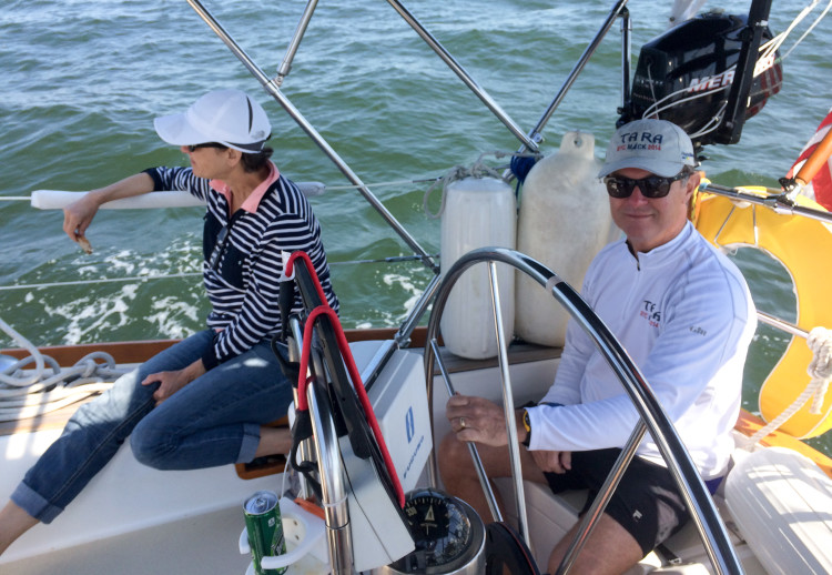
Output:
[[381,201],[369,191],[369,189],[361,181],[358,175],[344,162],[338,153],[324,140],[317,130],[303,117],[303,114],[292,104],[292,102],[281,92],[280,85],[271,80],[261,70],[257,64],[246,54],[242,48],[231,38],[231,36],[223,29],[222,26],[214,19],[199,0],[186,0],[191,8],[202,18],[205,23],[225,42],[225,46],[240,59],[241,62],[248,69],[254,78],[263,84],[263,88],[283,107],[288,115],[306,132],[306,135],[321,148],[321,150],[332,160],[332,162],[341,170],[349,182],[355,185],[358,191],[364,195],[365,200],[384,218],[384,220],[393,228],[396,233],[416,252],[422,262],[434,273],[439,273],[439,266],[434,262],[433,258],[419,245],[419,243],[404,229],[404,226],[396,220],[396,218],[382,204]]

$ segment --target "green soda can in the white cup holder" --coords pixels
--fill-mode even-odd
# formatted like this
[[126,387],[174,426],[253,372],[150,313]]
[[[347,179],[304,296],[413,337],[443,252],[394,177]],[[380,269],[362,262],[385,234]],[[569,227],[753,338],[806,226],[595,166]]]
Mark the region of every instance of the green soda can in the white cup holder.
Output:
[[277,494],[271,491],[258,491],[245,501],[243,513],[245,514],[245,528],[248,532],[248,546],[252,548],[254,572],[257,575],[286,573],[287,567],[263,569],[260,565],[263,557],[286,553]]

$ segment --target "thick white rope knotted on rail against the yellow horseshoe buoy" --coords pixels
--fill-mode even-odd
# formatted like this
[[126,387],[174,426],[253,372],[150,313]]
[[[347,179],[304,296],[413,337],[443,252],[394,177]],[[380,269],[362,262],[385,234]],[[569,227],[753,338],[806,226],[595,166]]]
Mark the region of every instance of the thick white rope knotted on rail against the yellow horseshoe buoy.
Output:
[[749,448],[755,445],[760,440],[771,432],[783,425],[789,418],[798,413],[803,405],[812,400],[809,413],[819,415],[823,406],[823,399],[826,395],[829,383],[832,381],[832,330],[825,327],[815,327],[809,332],[806,345],[812,350],[812,361],[806,367],[809,376],[812,379],[792,404],[774,420],[757,431],[751,437],[743,442],[743,447]]

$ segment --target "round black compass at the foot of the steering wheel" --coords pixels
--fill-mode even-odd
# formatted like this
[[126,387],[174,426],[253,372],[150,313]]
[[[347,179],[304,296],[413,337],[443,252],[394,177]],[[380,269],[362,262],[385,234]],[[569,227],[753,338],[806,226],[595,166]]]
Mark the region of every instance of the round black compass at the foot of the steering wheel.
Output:
[[438,490],[416,490],[404,513],[416,548],[389,565],[390,573],[483,572],[485,527],[470,505]]

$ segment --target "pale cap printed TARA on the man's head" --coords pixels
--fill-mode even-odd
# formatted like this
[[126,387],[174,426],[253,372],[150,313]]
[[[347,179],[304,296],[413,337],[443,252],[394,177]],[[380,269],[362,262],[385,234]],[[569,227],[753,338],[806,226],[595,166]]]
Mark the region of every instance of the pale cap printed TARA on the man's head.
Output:
[[616,130],[598,178],[625,168],[671,178],[686,165],[694,168],[697,161],[684,130],[667,120],[636,120]]

